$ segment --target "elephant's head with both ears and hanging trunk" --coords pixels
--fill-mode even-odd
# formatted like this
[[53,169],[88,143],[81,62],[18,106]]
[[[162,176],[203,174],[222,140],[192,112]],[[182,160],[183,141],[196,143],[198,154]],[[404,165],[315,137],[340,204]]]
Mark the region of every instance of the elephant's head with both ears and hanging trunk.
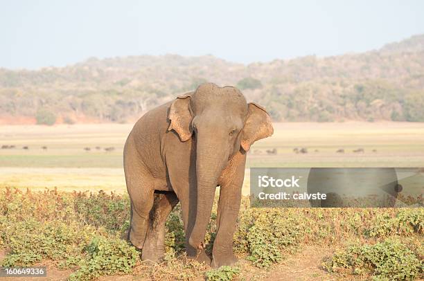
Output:
[[202,248],[211,217],[218,178],[236,153],[245,154],[252,143],[273,133],[267,111],[247,104],[234,87],[200,85],[194,93],[179,96],[170,106],[170,126],[182,142],[196,145],[197,212],[189,244]]

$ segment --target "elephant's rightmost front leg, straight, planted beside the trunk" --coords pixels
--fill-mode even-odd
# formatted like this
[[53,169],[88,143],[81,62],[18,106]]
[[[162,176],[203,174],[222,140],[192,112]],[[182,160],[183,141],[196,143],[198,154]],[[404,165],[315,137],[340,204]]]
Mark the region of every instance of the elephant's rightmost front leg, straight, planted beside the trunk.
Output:
[[220,189],[218,230],[213,243],[211,262],[211,266],[215,268],[235,264],[238,260],[233,253],[233,235],[240,210],[243,176],[244,169],[242,175],[238,175],[239,179],[233,179],[233,182],[222,185]]

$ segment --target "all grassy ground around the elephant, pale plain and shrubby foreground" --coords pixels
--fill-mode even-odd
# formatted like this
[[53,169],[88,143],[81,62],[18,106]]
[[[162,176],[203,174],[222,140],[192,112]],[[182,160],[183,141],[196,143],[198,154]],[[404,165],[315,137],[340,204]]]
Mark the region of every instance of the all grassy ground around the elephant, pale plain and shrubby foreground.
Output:
[[[0,127],[0,147],[15,145],[0,149],[1,264],[47,265],[48,280],[423,278],[422,208],[260,209],[249,208],[248,197],[234,236],[236,268],[211,271],[186,260],[178,206],[166,224],[166,260],[141,262],[123,241],[130,204],[122,149],[131,127]],[[424,166],[423,123],[275,123],[274,129],[272,138],[249,152],[244,194],[249,194],[249,167]],[[294,153],[296,147],[308,153]],[[364,152],[353,152],[358,148]],[[268,154],[270,149],[277,154]],[[215,202],[206,235],[210,242],[216,208]]]

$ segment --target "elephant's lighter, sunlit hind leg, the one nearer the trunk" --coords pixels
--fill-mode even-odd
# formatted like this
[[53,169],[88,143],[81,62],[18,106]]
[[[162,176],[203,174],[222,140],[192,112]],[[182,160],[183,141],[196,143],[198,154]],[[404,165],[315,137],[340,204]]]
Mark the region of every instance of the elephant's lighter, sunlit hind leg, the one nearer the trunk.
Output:
[[147,236],[141,253],[142,260],[159,262],[165,254],[166,218],[179,202],[174,192],[155,192],[150,211]]

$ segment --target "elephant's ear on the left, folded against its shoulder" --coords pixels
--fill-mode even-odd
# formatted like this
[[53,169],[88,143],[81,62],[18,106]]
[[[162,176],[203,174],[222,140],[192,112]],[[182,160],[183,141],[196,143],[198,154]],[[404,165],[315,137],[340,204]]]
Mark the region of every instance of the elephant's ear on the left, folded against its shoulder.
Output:
[[188,141],[193,132],[191,129],[191,120],[193,118],[190,113],[190,98],[191,93],[178,96],[169,109],[168,119],[170,120],[170,125],[168,131],[174,130],[177,132],[181,141]]

